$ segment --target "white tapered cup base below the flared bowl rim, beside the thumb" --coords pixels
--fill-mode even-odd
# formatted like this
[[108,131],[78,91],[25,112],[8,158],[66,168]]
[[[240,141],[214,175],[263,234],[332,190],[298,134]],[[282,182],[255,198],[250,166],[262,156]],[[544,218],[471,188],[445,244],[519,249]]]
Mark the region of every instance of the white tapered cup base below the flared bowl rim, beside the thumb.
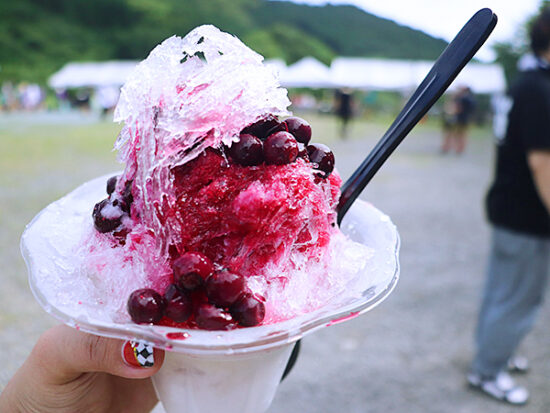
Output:
[[228,355],[168,351],[153,384],[166,413],[263,413],[293,344]]

